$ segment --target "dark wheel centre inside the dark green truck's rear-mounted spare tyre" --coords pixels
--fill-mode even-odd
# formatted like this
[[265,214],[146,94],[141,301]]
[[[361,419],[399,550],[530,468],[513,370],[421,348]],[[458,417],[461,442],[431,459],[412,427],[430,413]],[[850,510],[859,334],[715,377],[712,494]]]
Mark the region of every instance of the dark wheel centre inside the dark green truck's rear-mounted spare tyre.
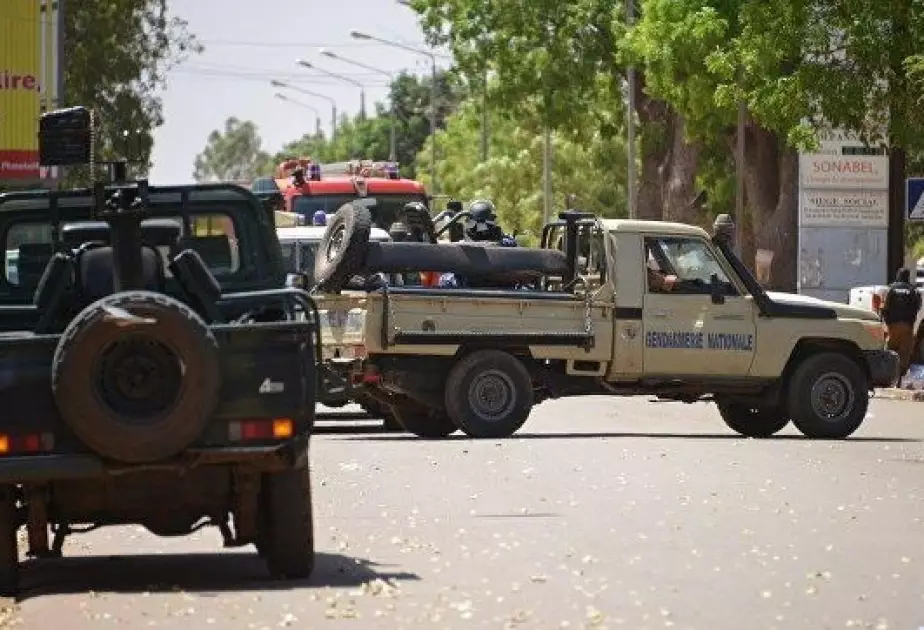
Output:
[[147,424],[180,397],[183,362],[161,341],[143,335],[113,343],[95,366],[97,395],[130,424]]

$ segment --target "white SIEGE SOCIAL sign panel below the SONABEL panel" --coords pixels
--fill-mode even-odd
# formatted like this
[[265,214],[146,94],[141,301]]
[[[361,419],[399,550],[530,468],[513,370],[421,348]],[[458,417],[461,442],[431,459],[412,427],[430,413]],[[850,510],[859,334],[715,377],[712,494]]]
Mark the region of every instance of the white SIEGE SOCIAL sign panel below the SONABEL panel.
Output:
[[889,227],[889,194],[885,190],[803,190],[800,227]]

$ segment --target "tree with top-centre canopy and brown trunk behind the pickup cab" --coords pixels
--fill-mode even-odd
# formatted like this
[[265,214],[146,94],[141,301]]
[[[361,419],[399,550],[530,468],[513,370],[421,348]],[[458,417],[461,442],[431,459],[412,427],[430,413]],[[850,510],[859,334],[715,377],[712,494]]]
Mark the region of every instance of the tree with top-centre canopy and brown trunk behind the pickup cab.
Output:
[[[492,109],[518,119],[538,115],[559,133],[624,133],[624,116],[602,120],[607,110],[591,106],[602,96],[624,110],[626,65],[617,48],[625,31],[623,3],[414,0],[413,6],[430,40],[448,44],[471,81],[494,74]],[[689,220],[699,147],[686,142],[683,120],[672,108],[645,90],[644,68],[638,84],[639,216],[660,219],[663,209],[668,218]]]

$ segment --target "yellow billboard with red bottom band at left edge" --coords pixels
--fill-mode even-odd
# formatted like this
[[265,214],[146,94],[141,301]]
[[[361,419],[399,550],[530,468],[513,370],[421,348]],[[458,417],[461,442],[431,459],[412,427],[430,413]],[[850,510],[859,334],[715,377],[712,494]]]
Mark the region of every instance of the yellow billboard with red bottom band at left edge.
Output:
[[0,0],[0,182],[39,179],[38,119],[56,105],[58,11],[51,0]]

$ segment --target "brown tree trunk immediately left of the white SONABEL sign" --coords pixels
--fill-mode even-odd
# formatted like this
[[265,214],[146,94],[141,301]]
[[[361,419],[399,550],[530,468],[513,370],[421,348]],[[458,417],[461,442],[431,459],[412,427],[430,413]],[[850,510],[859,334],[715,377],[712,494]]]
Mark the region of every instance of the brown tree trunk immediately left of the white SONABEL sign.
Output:
[[777,291],[794,291],[799,154],[785,146],[775,133],[749,122],[745,164],[745,192],[753,217],[754,245],[758,256],[761,250],[773,256],[770,277],[764,284]]

